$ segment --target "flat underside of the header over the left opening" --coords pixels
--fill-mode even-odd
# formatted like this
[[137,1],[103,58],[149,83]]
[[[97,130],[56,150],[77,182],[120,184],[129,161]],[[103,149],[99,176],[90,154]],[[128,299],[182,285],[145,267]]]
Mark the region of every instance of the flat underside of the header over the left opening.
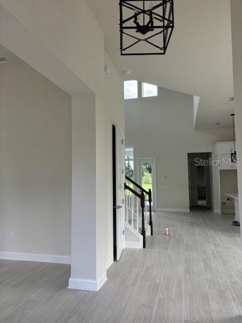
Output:
[[[0,1],[0,44],[70,95],[92,90]],[[3,55],[8,58],[8,55]],[[11,60],[11,57],[9,57]],[[2,64],[6,66],[9,63]]]

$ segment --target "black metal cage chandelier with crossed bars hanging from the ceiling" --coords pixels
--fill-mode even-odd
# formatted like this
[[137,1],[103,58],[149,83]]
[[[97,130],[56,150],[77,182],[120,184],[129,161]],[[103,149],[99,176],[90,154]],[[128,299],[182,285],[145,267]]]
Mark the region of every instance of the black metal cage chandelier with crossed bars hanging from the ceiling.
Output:
[[164,55],[174,28],[173,0],[119,0],[121,55]]

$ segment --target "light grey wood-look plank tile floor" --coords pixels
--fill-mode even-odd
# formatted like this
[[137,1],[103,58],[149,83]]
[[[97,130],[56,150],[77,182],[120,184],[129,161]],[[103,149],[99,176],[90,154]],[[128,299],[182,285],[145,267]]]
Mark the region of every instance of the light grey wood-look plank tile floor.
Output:
[[232,219],[155,213],[147,248],[125,249],[97,293],[67,289],[69,265],[0,260],[0,323],[242,322],[240,230]]

